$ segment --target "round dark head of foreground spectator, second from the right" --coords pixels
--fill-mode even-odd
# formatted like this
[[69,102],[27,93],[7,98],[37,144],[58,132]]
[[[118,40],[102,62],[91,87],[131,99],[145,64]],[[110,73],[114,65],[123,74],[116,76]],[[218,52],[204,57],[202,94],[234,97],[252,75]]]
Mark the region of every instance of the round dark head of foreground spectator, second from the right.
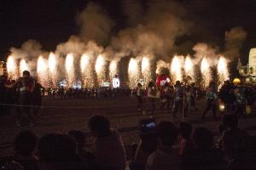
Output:
[[213,134],[206,127],[198,127],[193,134],[193,140],[198,149],[209,150],[212,149]]

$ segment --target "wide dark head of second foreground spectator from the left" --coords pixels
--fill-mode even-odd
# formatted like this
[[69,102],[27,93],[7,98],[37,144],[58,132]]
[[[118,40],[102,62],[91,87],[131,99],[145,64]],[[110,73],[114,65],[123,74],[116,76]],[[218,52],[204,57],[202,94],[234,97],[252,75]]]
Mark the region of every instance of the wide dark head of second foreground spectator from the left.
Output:
[[67,135],[49,133],[39,140],[38,154],[41,162],[71,161],[76,155],[76,144]]

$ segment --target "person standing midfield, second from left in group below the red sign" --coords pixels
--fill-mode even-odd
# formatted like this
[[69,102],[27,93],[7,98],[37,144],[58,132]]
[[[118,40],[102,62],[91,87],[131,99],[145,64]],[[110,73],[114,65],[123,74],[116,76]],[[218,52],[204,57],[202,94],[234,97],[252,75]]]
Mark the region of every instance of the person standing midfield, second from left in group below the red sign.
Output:
[[154,111],[155,111],[155,99],[156,99],[156,87],[154,85],[154,82],[148,83],[147,88],[147,98],[149,102],[149,111],[151,113],[151,116],[154,117]]

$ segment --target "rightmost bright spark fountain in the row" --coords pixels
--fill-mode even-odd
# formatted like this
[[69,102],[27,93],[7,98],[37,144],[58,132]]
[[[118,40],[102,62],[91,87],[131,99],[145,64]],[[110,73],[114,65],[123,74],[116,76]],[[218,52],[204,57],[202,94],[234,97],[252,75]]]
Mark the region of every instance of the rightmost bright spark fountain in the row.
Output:
[[224,81],[229,80],[229,77],[230,77],[230,73],[228,70],[228,63],[223,56],[220,56],[220,58],[218,59],[217,69],[218,69],[218,84],[220,87],[224,83]]

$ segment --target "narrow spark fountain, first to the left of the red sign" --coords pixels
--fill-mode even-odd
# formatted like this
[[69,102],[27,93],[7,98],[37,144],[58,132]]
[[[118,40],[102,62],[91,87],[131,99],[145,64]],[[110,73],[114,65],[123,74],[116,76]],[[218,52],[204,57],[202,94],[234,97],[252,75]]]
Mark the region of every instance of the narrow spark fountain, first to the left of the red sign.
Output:
[[144,88],[146,88],[148,82],[151,81],[151,72],[150,72],[150,60],[148,57],[143,57],[142,60],[142,75]]

